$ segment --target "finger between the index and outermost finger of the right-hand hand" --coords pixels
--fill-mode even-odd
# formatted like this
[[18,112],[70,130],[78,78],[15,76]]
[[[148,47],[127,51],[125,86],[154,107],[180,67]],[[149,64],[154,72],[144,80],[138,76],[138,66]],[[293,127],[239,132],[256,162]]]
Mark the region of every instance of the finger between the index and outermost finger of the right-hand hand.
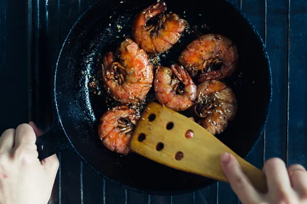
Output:
[[268,181],[269,192],[274,198],[290,198],[293,192],[286,164],[279,159],[268,160],[264,165],[264,173]]

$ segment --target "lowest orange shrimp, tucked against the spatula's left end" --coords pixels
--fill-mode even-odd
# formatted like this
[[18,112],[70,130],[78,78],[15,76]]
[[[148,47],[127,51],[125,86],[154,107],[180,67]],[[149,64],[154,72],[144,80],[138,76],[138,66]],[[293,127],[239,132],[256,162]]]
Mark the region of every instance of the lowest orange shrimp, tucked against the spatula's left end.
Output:
[[104,113],[98,126],[104,146],[119,154],[128,154],[131,133],[138,119],[137,112],[128,106],[118,106]]

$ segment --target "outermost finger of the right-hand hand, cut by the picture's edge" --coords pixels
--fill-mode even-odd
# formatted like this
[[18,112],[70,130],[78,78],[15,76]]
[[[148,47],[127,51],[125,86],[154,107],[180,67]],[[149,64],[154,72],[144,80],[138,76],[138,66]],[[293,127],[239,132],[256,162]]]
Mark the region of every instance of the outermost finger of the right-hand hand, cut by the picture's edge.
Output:
[[299,164],[288,168],[292,188],[298,192],[300,197],[307,197],[307,171]]

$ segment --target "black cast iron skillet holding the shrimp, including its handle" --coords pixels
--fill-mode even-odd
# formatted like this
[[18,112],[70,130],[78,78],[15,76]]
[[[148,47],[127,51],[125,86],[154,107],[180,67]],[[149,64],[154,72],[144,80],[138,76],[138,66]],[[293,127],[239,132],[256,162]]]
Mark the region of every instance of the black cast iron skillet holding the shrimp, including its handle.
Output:
[[[131,35],[134,16],[152,3],[101,1],[75,23],[55,65],[56,119],[51,130],[37,140],[39,157],[43,159],[55,152],[70,150],[105,179],[125,188],[159,195],[187,193],[214,181],[162,166],[136,154],[122,157],[106,149],[97,134],[99,118],[107,110],[105,95],[94,95],[87,86],[90,82],[87,74],[93,75],[100,69],[96,66],[97,56],[115,50],[124,39],[123,34]],[[264,131],[271,104],[271,69],[264,43],[246,15],[227,1],[203,1],[202,5],[196,0],[166,3],[168,12],[186,15],[183,18],[191,27],[196,25],[203,34],[226,35],[238,46],[239,66],[233,76],[225,80],[237,97],[238,112],[218,138],[239,156],[246,157]],[[204,23],[206,26],[202,29]],[[117,24],[123,27],[120,33]],[[169,66],[171,61],[176,61],[195,38],[194,33],[186,33],[181,43],[169,50],[162,64]]]

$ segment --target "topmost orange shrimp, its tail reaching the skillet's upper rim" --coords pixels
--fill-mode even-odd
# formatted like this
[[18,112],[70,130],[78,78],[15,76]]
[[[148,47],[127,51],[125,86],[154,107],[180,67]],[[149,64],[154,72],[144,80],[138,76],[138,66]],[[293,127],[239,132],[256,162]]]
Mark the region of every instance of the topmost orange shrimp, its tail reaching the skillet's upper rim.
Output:
[[[133,37],[148,53],[162,53],[177,43],[187,24],[177,14],[164,15],[166,4],[159,1],[141,11],[134,19]],[[159,15],[158,23],[148,25],[147,21]]]

